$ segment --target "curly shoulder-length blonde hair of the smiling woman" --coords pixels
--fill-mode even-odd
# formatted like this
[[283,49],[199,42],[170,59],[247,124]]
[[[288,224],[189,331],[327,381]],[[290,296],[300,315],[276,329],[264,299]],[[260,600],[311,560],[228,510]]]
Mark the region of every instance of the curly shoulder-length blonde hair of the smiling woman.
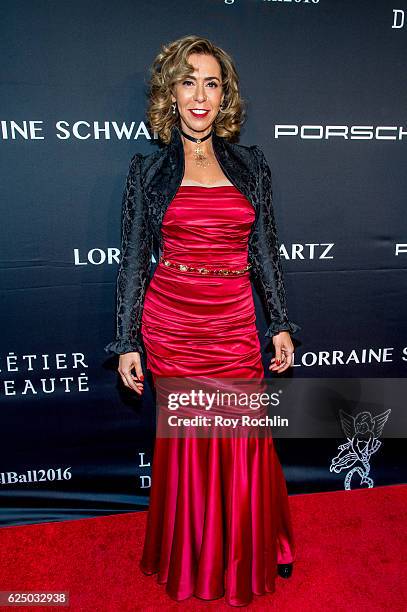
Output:
[[174,85],[189,76],[194,67],[187,62],[191,53],[212,55],[220,64],[223,109],[216,117],[213,128],[218,136],[234,140],[240,133],[246,115],[246,101],[239,92],[239,77],[231,56],[207,38],[189,35],[163,44],[150,68],[149,106],[147,118],[152,131],[168,144],[172,129],[180,126],[179,115],[171,108]]

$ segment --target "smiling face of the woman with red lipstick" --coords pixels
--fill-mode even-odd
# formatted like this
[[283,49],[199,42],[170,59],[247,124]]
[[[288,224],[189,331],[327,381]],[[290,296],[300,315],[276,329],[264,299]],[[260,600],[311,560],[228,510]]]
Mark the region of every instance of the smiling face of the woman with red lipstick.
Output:
[[[175,86],[171,96],[180,114],[181,128],[195,138],[209,134],[223,101],[221,68],[212,55],[191,53],[193,73]],[[194,113],[205,110],[205,113]]]

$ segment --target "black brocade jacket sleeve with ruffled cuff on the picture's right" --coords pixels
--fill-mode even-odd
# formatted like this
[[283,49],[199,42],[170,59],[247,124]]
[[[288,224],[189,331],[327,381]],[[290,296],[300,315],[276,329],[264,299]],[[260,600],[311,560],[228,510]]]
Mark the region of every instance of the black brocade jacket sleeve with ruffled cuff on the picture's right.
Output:
[[280,331],[295,334],[302,328],[288,320],[280,244],[272,202],[271,170],[260,147],[253,146],[253,151],[258,161],[260,209],[251,236],[251,262],[270,317],[271,324],[265,336],[275,336]]

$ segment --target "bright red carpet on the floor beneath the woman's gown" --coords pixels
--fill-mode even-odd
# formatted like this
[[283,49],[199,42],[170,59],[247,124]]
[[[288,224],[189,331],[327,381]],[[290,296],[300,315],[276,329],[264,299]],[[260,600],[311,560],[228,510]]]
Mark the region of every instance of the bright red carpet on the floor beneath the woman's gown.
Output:
[[[250,609],[407,610],[407,485],[290,497],[298,548],[291,578]],[[223,599],[173,602],[138,569],[146,512],[0,529],[0,590],[64,590],[69,610],[232,610]],[[9,607],[1,607],[10,610]],[[18,607],[64,610],[63,607]],[[237,609],[237,608],[235,608]]]

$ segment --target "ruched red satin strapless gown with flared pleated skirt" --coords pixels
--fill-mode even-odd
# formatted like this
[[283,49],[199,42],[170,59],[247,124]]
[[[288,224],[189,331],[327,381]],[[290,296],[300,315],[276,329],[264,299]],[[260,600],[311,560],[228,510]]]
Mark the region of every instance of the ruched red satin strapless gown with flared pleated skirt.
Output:
[[[163,256],[241,269],[255,212],[234,186],[180,186],[163,219]],[[250,272],[157,265],[141,332],[157,377],[264,378]],[[295,558],[286,482],[269,428],[259,438],[157,437],[140,568],[178,601],[246,605],[275,590]]]

